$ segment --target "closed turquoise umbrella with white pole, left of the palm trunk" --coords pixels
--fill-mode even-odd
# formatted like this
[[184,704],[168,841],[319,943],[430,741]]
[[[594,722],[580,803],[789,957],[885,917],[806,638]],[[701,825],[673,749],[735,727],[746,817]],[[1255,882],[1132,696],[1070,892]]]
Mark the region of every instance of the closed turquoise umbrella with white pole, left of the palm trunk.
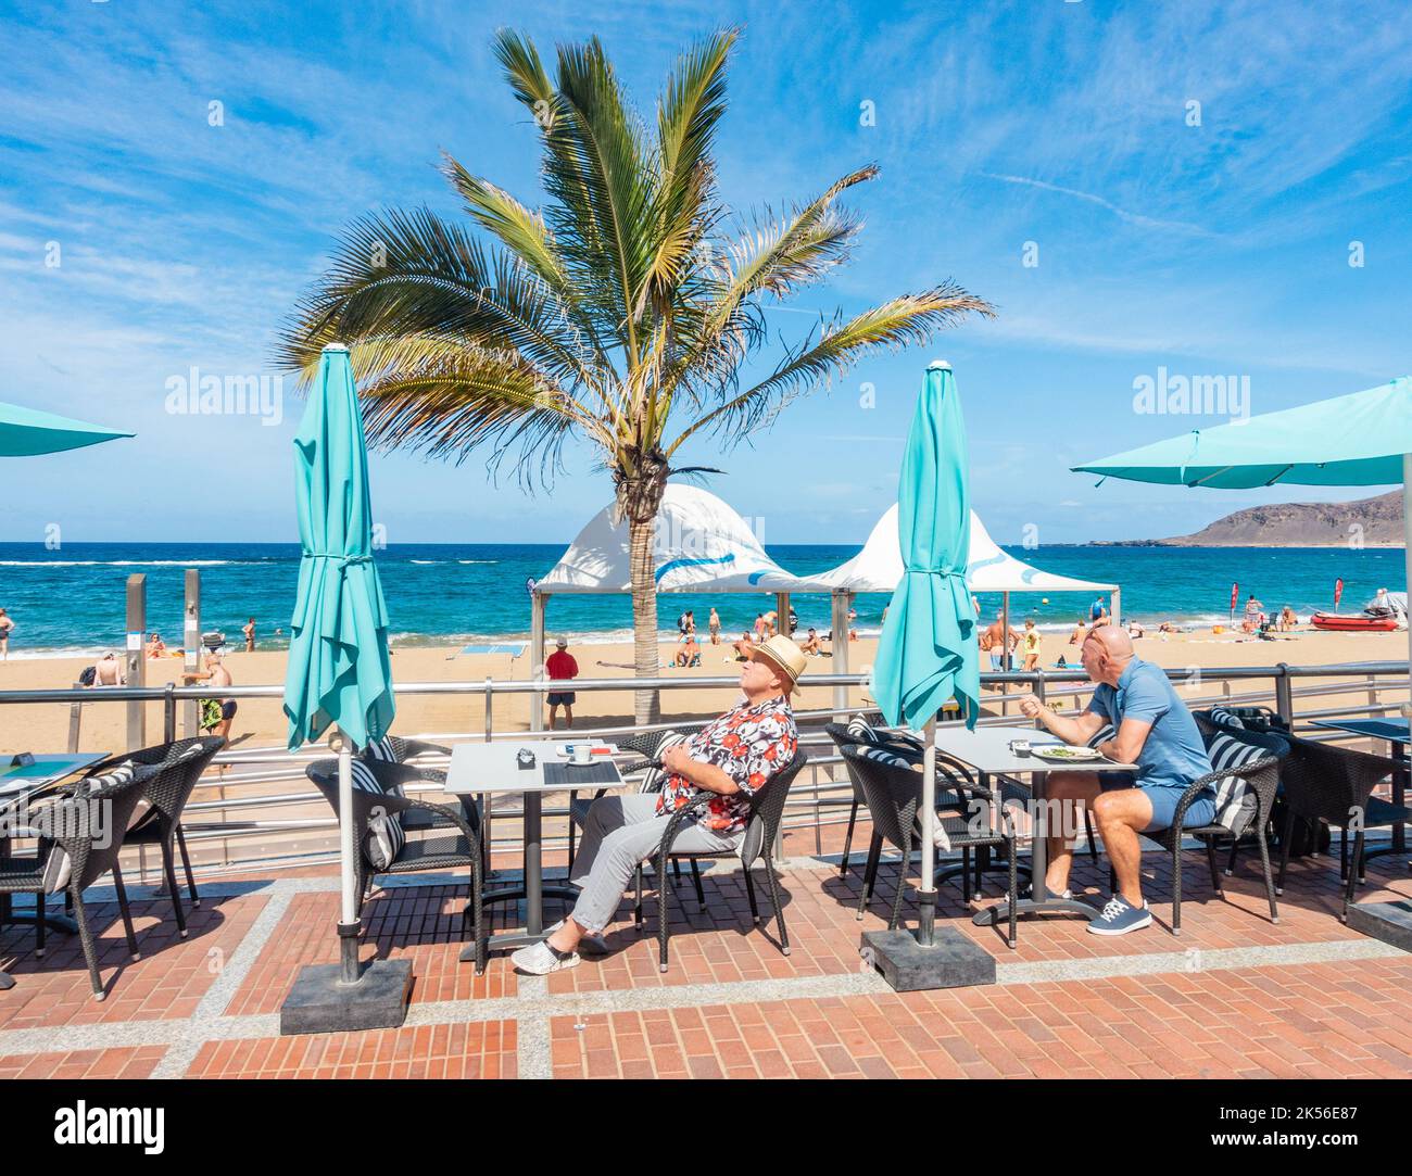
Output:
[[353,854],[359,848],[349,819],[352,752],[387,734],[395,703],[387,654],[387,606],[373,563],[363,414],[347,347],[330,343],[323,349],[294,448],[304,555],[291,620],[284,713],[289,719],[291,751],[319,738],[329,727],[337,731],[343,871],[340,967],[333,970],[337,976],[306,968],[301,984],[360,985],[369,977],[360,974],[357,959]]

